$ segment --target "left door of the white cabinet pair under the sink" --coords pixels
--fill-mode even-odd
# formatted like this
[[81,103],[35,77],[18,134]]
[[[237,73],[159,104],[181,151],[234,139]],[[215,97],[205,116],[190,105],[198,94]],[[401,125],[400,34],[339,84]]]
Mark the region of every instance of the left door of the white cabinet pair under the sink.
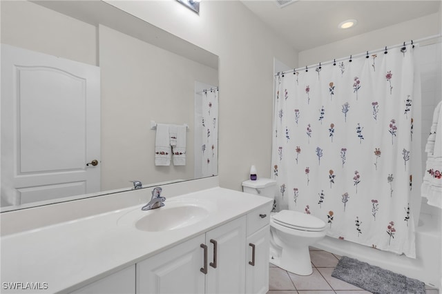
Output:
[[137,263],[137,293],[204,293],[204,234]]

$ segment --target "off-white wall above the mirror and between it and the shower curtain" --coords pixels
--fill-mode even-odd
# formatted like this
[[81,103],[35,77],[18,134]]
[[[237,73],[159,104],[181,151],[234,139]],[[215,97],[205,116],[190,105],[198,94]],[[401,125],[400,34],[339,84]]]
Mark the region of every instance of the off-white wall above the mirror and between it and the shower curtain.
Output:
[[296,51],[239,1],[202,1],[199,16],[175,0],[109,2],[220,57],[220,186],[240,190],[252,164],[270,177],[273,57],[294,68]]

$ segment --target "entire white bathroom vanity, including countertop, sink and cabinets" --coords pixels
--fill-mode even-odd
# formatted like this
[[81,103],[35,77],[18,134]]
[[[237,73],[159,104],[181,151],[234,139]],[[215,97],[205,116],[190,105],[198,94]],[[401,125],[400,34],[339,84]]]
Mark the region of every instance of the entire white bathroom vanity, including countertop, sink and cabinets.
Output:
[[182,185],[164,186],[162,208],[128,206],[151,192],[133,190],[115,196],[120,209],[8,228],[1,293],[267,293],[271,199],[218,186],[180,195]]

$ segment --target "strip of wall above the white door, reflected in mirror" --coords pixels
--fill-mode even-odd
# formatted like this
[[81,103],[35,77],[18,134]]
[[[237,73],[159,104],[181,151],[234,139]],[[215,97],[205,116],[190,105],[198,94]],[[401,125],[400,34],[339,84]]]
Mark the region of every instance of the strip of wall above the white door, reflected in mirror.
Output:
[[28,1],[0,1],[1,43],[97,66],[95,26]]

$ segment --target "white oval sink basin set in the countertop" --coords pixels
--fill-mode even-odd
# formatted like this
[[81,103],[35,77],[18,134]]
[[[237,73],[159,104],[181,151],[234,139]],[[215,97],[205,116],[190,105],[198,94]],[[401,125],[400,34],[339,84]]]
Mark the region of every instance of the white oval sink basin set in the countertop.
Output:
[[140,231],[161,232],[186,228],[210,215],[213,206],[193,199],[164,202],[165,206],[152,210],[136,208],[117,221],[121,226],[135,226]]

